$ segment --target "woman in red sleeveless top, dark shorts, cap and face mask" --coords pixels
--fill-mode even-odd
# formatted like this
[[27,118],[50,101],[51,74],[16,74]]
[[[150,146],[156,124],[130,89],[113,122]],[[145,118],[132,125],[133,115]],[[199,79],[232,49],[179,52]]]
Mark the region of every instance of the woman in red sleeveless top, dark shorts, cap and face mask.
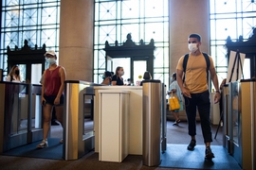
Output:
[[[57,120],[63,126],[63,112],[64,112],[64,67],[56,64],[56,54],[54,51],[47,51],[45,54],[46,62],[49,68],[45,70],[42,79],[42,98],[41,102],[44,106],[44,139],[37,147],[44,148],[48,146],[47,136],[51,122],[51,111],[53,107],[56,110]],[[63,143],[63,140],[60,141]]]

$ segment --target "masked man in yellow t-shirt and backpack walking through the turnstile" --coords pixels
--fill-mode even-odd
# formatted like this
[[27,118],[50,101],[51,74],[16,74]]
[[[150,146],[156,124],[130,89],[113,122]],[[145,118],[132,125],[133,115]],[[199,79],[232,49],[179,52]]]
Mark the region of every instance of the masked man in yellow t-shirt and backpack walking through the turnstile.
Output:
[[[177,82],[180,90],[185,99],[186,114],[189,125],[189,135],[191,135],[192,140],[188,145],[189,150],[193,150],[196,145],[195,135],[196,135],[196,109],[198,109],[201,127],[204,137],[204,142],[206,144],[205,159],[211,160],[214,158],[214,154],[210,149],[210,142],[212,142],[211,137],[211,127],[210,127],[210,92],[208,90],[207,82],[207,61],[204,55],[201,53],[199,47],[201,45],[201,36],[198,34],[191,34],[188,38],[188,47],[191,51],[189,54],[185,79],[183,82],[182,76],[183,70],[183,60],[181,57],[178,60],[176,67]],[[215,87],[214,103],[219,102],[220,92],[218,85],[218,77],[213,65],[211,57],[210,59],[210,76]]]

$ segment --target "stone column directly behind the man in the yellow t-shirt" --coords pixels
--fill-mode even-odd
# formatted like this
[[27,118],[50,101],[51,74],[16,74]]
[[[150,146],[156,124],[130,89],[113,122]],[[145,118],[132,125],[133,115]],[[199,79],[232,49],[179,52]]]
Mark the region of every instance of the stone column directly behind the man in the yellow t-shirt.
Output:
[[202,52],[210,52],[210,18],[207,0],[170,0],[170,74],[176,71],[178,59],[188,49],[188,36],[202,37]]

